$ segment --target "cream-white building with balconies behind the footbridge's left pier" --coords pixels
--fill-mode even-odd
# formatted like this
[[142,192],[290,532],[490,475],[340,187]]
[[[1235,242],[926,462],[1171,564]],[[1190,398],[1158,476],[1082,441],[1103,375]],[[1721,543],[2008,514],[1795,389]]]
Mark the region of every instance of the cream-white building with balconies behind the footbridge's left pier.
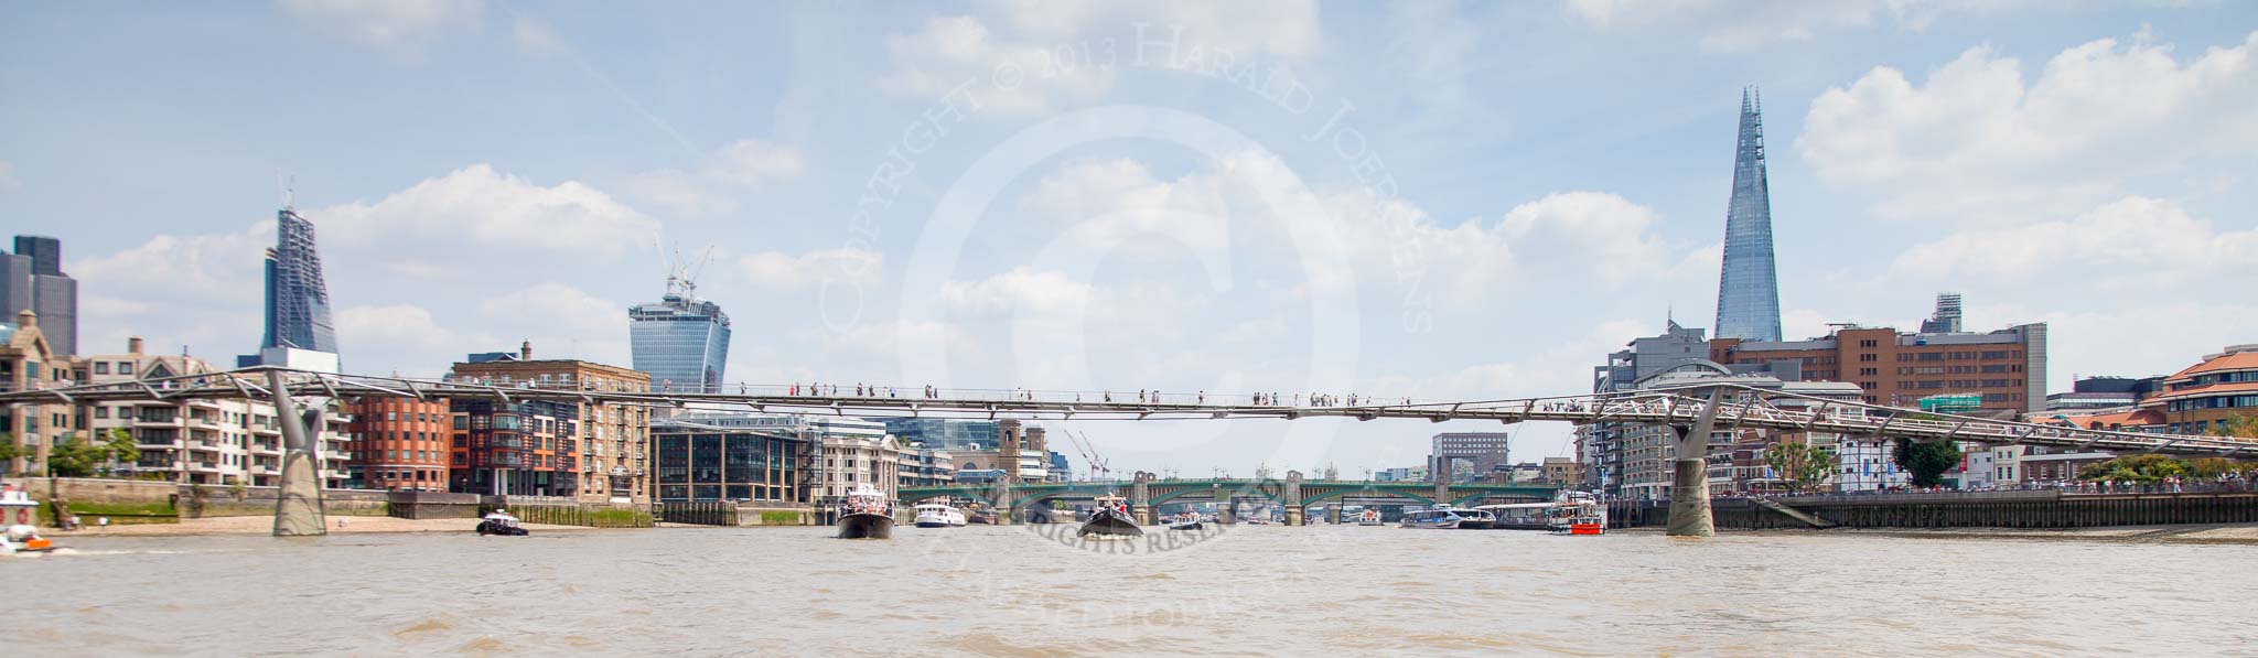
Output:
[[[126,354],[81,358],[88,383],[160,379],[215,372],[194,356],[142,354],[142,340],[126,340]],[[318,428],[321,482],[345,487],[345,442],[350,417],[336,401],[325,401]],[[178,403],[104,401],[81,406],[90,435],[122,428],[133,435],[138,473],[165,473],[185,484],[275,487],[282,480],[282,426],[275,406],[251,399],[187,399]],[[312,430],[312,428],[309,428]]]

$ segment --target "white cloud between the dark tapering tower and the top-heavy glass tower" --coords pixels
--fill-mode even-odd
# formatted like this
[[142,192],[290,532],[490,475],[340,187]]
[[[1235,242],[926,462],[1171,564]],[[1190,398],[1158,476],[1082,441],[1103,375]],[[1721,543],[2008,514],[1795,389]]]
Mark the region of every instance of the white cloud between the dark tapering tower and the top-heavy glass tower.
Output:
[[427,178],[377,203],[305,214],[325,246],[406,243],[619,255],[648,243],[659,223],[578,180],[551,187],[472,164]]

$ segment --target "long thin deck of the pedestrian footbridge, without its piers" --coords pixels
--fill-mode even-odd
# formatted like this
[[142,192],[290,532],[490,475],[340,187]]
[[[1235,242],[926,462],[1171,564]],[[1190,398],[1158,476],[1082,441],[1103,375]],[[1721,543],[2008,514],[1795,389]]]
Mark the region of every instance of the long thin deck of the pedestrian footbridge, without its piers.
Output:
[[[246,367],[219,374],[0,392],[0,403],[36,401],[169,401],[208,397],[266,397],[264,372]],[[546,399],[587,403],[711,406],[759,412],[813,412],[842,417],[953,417],[953,419],[1425,419],[1425,421],[1569,421],[1569,424],[1678,424],[1691,426],[1705,397],[1682,392],[1576,394],[1490,401],[1355,399],[1357,403],[1307,403],[1280,397],[1255,403],[1251,394],[1158,394],[1158,392],[1061,392],[1061,390],[926,390],[824,385],[732,385],[736,392],[639,392],[587,388],[535,388],[531,383],[415,381],[393,376],[316,374],[282,370],[298,394],[327,397],[418,397],[418,399]],[[1804,399],[1745,385],[1727,390],[1718,403],[1718,430],[1768,428],[1838,433],[1876,439],[2028,444],[2077,451],[2258,455],[2258,442],[2211,435],[2152,435],[2023,424],[1960,415],[1933,415],[1854,401]],[[1346,397],[1341,399],[1346,401]]]

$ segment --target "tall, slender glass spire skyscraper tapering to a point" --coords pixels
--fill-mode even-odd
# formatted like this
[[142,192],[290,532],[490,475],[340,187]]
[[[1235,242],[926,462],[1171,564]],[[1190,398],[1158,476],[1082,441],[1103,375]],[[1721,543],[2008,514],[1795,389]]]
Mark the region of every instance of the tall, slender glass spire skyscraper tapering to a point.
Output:
[[1716,338],[1779,340],[1779,275],[1773,268],[1773,196],[1763,180],[1763,101],[1741,90],[1741,142],[1725,210],[1725,268],[1716,284]]

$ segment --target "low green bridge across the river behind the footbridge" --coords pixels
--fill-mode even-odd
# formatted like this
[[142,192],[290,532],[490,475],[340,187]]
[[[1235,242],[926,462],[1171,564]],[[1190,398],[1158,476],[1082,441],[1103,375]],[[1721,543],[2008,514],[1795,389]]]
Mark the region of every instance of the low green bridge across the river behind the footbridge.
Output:
[[[1551,500],[1554,484],[1441,484],[1441,482],[1366,482],[1366,480],[1303,480],[1301,473],[1287,473],[1285,480],[1156,480],[1149,473],[1138,473],[1136,480],[1109,480],[1109,482],[989,482],[989,484],[948,484],[948,487],[901,487],[899,496],[903,505],[914,505],[919,500],[933,498],[971,498],[996,509],[998,523],[1014,523],[1023,518],[1025,509],[1045,505],[1054,498],[1095,498],[1095,496],[1122,496],[1129,498],[1129,512],[1138,523],[1154,523],[1154,507],[1167,503],[1190,503],[1190,500],[1213,500],[1224,507],[1217,521],[1231,523],[1237,516],[1240,500],[1269,503],[1285,507],[1287,525],[1303,525],[1307,509],[1312,505],[1323,505],[1328,500],[1339,503],[1341,498],[1402,498],[1416,505],[1470,505],[1477,500],[1502,498],[1502,500]],[[1341,505],[1330,505],[1330,516],[1339,523]]]

